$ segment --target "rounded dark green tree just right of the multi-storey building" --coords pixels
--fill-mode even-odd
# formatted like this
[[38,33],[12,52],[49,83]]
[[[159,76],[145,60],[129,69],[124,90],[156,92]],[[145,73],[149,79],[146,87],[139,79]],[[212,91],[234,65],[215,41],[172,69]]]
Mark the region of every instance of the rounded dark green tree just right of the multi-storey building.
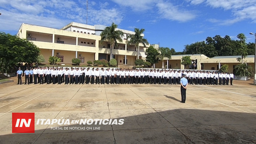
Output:
[[149,46],[148,49],[146,49],[145,55],[146,61],[151,63],[151,67],[154,63],[158,63],[159,58],[157,56],[159,55],[159,52],[153,46]]

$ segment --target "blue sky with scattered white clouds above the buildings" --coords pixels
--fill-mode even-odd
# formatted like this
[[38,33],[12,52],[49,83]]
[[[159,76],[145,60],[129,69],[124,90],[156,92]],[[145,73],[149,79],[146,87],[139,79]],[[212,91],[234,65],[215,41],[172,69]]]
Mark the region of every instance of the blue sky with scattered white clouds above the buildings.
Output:
[[[0,0],[0,31],[15,35],[21,23],[60,29],[86,23],[86,0]],[[181,52],[215,35],[244,33],[254,43],[256,0],[88,0],[89,25],[145,29],[151,44]]]

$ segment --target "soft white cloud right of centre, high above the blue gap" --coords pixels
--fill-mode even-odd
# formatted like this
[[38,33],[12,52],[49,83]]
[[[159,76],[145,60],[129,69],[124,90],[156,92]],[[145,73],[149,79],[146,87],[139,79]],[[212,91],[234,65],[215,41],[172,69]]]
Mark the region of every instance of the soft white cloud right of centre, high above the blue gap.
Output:
[[179,22],[186,22],[196,17],[194,12],[180,9],[172,3],[157,3],[158,13],[162,18],[167,20],[177,20]]

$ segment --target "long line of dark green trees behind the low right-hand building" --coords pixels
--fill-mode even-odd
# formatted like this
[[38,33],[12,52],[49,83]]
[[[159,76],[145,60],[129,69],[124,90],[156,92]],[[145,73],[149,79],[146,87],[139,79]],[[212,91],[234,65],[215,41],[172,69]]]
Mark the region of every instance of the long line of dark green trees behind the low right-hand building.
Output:
[[[183,52],[176,52],[174,55],[186,54],[204,54],[209,58],[215,56],[242,55],[242,59],[246,55],[254,55],[254,43],[245,43],[244,34],[238,34],[237,40],[231,40],[230,36],[207,37],[205,41],[198,41],[190,45],[186,45]],[[245,56],[245,57],[244,57]]]

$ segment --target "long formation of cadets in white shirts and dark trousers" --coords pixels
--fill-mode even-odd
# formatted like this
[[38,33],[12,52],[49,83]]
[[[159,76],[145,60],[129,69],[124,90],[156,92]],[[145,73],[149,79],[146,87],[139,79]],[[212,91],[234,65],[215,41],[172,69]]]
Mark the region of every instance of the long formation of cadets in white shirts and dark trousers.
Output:
[[25,84],[180,84],[181,75],[186,75],[189,84],[233,85],[233,72],[209,72],[201,70],[167,69],[90,69],[40,67],[17,71],[18,84],[25,76]]

